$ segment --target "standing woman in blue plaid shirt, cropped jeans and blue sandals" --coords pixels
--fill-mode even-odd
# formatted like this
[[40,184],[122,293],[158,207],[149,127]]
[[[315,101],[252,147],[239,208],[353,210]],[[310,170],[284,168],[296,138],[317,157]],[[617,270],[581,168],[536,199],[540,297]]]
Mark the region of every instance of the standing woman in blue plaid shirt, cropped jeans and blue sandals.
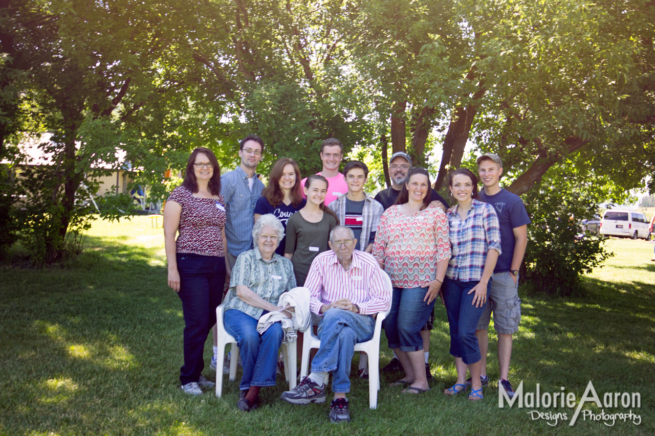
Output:
[[447,213],[453,255],[443,280],[443,302],[450,325],[451,349],[457,383],[443,391],[456,395],[466,390],[466,369],[471,373],[470,400],[483,398],[477,321],[487,304],[491,276],[500,255],[500,226],[491,204],[476,200],[477,177],[466,168],[451,173],[449,189],[457,206]]

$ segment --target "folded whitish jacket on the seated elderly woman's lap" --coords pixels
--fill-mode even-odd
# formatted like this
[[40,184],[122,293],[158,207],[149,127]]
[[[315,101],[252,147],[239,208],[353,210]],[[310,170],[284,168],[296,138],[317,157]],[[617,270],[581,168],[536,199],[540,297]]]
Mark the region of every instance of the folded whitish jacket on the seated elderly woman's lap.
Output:
[[278,306],[286,307],[289,305],[293,308],[291,319],[287,318],[282,312],[269,312],[262,315],[257,322],[257,332],[263,335],[273,323],[282,323],[284,338],[282,343],[293,342],[297,337],[295,331],[305,331],[312,322],[312,314],[309,312],[309,289],[306,287],[294,287],[291,291],[280,295]]

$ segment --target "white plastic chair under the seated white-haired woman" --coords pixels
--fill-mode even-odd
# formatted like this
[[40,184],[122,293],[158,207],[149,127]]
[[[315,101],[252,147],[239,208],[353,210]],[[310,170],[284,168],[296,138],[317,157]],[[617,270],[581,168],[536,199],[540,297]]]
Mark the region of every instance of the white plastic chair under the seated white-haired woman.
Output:
[[[231,344],[231,358],[230,358],[230,375],[231,382],[236,378],[236,365],[239,360],[239,348],[236,345],[236,339],[225,331],[225,324],[223,324],[223,312],[225,303],[216,308],[216,336],[218,346],[218,356],[216,359],[216,396],[223,395],[223,359],[225,357],[225,346]],[[284,360],[284,378],[289,382],[289,389],[295,388],[296,384],[296,354],[295,346],[296,340],[288,344],[282,344],[282,359]]]

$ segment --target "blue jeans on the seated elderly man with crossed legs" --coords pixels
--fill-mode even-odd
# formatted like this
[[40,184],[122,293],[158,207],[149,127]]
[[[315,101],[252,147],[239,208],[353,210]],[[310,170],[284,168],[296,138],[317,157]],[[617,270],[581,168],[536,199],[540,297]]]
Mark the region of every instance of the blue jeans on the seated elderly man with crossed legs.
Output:
[[332,391],[350,392],[350,362],[357,342],[373,338],[375,318],[331,308],[318,322],[321,347],[312,359],[312,372],[332,372]]

